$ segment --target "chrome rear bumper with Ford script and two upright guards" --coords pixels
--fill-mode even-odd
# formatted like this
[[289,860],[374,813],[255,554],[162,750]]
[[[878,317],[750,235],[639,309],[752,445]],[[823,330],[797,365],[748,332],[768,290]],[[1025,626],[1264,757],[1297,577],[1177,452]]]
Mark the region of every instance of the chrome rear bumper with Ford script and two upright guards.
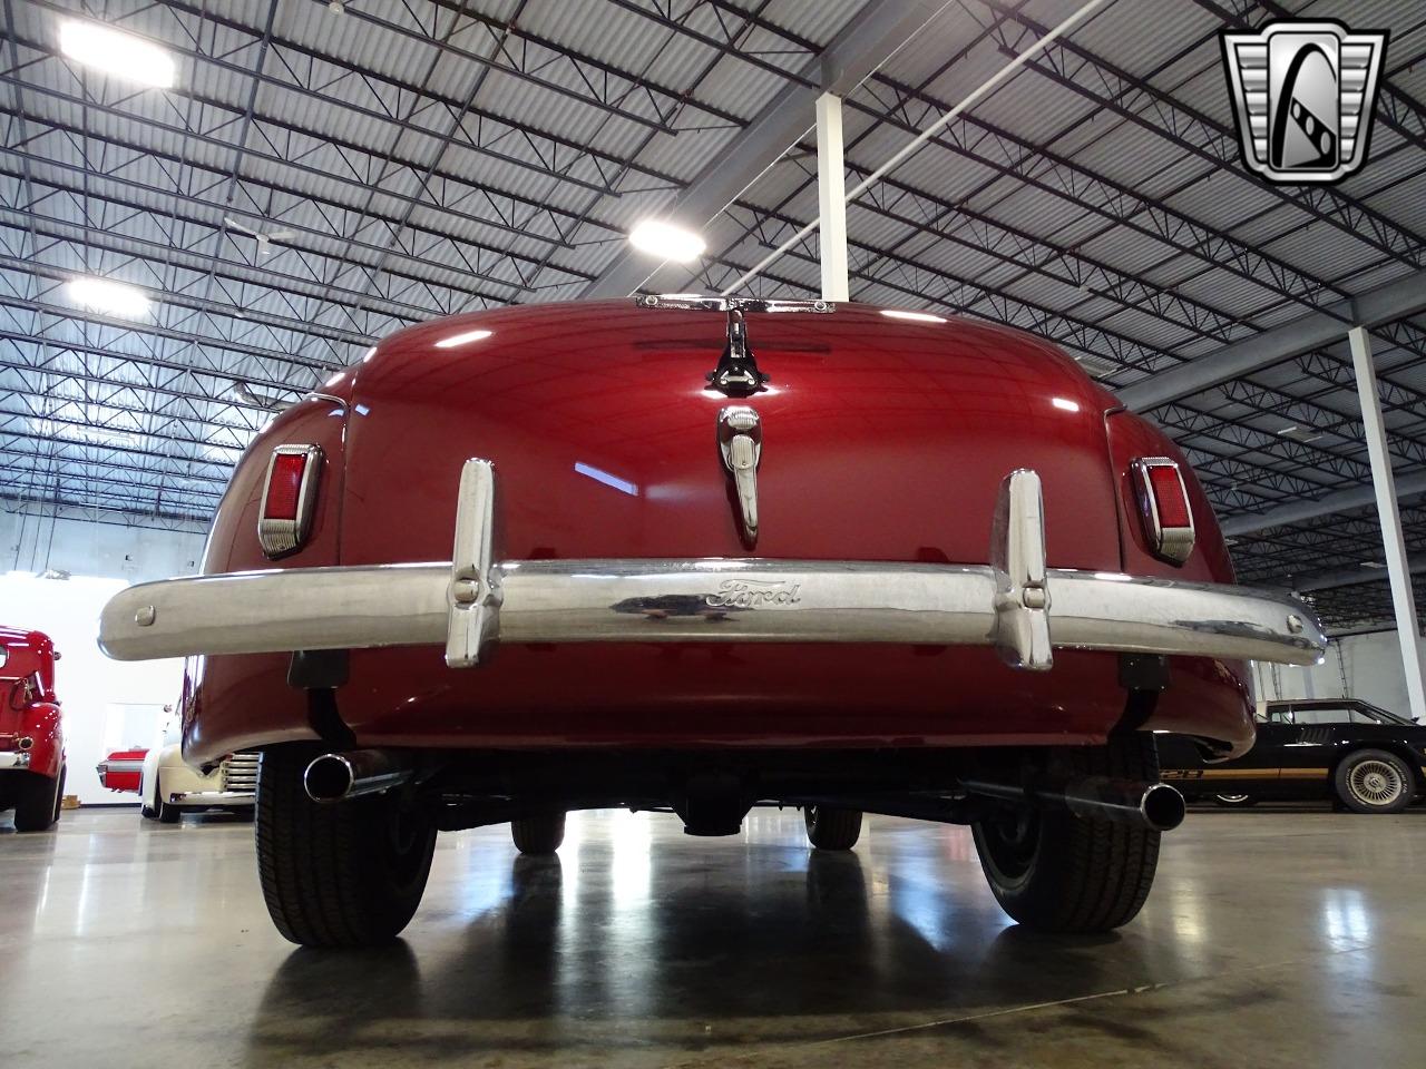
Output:
[[1040,477],[1001,489],[990,564],[817,560],[508,560],[491,552],[493,470],[461,479],[451,563],[244,572],[117,594],[100,646],[117,660],[446,647],[495,641],[924,643],[994,646],[1048,668],[1052,649],[1312,664],[1326,647],[1301,601],[1225,584],[1047,569]]

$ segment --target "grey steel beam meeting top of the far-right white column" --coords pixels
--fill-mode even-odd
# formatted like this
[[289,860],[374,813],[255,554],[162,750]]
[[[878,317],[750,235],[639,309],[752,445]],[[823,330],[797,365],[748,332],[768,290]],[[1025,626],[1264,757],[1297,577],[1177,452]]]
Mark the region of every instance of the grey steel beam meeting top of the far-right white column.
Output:
[[1379,326],[1426,309],[1426,271],[1301,315],[1252,338],[1195,356],[1181,368],[1159,372],[1121,389],[1119,401],[1147,412],[1171,401],[1251,375],[1292,356],[1342,341],[1348,326]]

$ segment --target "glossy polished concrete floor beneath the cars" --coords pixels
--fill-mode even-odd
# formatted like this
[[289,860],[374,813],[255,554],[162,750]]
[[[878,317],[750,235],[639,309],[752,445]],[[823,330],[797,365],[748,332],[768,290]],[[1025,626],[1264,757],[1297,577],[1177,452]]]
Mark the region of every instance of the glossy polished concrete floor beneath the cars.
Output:
[[1138,921],[1020,931],[960,828],[816,855],[570,818],[558,861],[443,835],[405,941],[297,951],[251,825],[0,817],[0,1065],[1416,1066],[1426,812],[1195,811]]

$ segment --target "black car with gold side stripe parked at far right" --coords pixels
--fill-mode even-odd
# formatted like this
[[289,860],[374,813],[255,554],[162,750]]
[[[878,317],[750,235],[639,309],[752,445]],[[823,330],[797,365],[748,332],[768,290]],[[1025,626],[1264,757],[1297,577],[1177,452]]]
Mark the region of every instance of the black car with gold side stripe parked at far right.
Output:
[[1162,778],[1219,805],[1330,798],[1356,812],[1400,812],[1426,790],[1426,727],[1356,698],[1271,701],[1258,741],[1208,764],[1201,748],[1159,735]]

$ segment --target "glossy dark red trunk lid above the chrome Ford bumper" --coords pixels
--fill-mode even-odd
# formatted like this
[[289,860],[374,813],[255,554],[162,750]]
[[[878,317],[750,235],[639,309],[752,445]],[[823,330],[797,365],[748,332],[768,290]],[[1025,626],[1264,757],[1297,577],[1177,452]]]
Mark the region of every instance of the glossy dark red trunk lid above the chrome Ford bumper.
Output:
[[[341,563],[449,559],[459,469],[481,456],[505,559],[985,563],[1001,479],[1034,468],[1050,563],[1119,567],[1115,401],[1052,346],[864,305],[746,321],[770,376],[747,398],[706,381],[722,312],[522,306],[394,335],[354,372]],[[729,405],[761,419],[754,547],[717,443]]]

